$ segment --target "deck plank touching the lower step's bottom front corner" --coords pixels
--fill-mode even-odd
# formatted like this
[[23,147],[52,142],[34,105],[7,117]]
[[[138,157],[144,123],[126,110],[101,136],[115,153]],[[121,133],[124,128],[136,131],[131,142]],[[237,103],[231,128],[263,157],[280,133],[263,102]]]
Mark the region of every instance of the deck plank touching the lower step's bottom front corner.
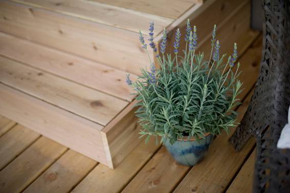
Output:
[[151,138],[148,145],[141,142],[114,169],[103,164],[97,165],[72,192],[93,193],[96,190],[106,193],[120,192],[160,147],[154,140]]

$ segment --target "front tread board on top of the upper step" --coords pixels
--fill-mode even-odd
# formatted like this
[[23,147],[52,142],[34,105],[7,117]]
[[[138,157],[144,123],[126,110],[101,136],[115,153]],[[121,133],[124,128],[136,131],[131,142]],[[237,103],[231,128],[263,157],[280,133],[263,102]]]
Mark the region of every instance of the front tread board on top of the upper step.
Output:
[[144,34],[148,34],[149,32],[148,25],[149,22],[151,21],[155,23],[155,30],[158,33],[163,31],[163,29],[166,26],[168,26],[171,22],[173,22],[173,19],[170,18],[152,15],[131,9],[125,9],[122,7],[111,6],[96,1],[86,1],[86,0],[85,1],[12,0],[12,1],[137,33],[139,33],[139,30],[141,30]]

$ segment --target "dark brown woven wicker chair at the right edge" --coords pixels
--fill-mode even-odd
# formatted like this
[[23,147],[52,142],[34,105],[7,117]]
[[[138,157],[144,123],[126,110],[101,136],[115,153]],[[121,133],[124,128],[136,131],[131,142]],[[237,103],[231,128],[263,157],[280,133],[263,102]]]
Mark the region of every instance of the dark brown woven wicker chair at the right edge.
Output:
[[289,0],[264,0],[260,75],[249,108],[230,138],[236,151],[251,136],[256,138],[254,192],[290,192],[290,149],[277,149],[290,104],[289,6]]

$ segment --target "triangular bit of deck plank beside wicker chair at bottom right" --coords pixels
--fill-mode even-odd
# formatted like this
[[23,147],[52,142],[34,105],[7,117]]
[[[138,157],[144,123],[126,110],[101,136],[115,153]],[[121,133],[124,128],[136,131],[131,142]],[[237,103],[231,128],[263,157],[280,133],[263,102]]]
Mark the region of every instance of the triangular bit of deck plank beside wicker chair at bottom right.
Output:
[[249,159],[242,166],[238,175],[231,183],[227,193],[251,192],[253,189],[254,166],[256,161],[256,149],[252,152]]

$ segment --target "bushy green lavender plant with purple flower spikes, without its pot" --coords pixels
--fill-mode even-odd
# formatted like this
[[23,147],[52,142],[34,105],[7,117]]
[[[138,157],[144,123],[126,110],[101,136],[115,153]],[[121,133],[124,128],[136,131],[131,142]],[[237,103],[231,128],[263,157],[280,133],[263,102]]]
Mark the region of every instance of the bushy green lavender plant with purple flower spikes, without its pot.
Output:
[[[150,23],[149,45],[154,52],[154,24]],[[226,60],[220,57],[219,41],[216,40],[216,26],[212,33],[209,59],[204,53],[196,54],[197,32],[187,22],[183,55],[179,55],[181,32],[175,33],[174,55],[165,54],[167,32],[164,30],[157,60],[160,69],[150,60],[150,70],[141,69],[142,75],[133,82],[127,75],[126,82],[136,91],[139,109],[136,116],[142,126],[141,137],[161,136],[161,142],[169,139],[173,144],[183,136],[204,138],[205,133],[218,135],[222,130],[236,126],[237,112],[233,110],[239,102],[238,94],[242,83],[237,79],[239,63],[233,70],[237,59],[237,45],[233,54]],[[147,51],[144,37],[140,32],[142,47]],[[148,53],[148,52],[147,52]]]

